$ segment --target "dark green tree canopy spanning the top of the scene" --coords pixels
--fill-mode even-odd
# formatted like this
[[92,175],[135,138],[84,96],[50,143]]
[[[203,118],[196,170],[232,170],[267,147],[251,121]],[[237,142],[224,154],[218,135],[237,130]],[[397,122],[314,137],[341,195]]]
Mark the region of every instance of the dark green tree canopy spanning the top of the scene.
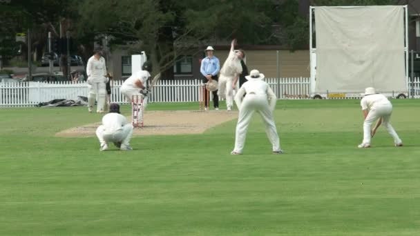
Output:
[[[171,68],[180,52],[201,53],[209,44],[236,38],[240,44],[306,48],[309,22],[299,0],[13,0],[1,5],[4,36],[59,26],[77,38],[85,57],[94,41],[110,36],[111,48],[146,51],[156,70]],[[309,0],[312,6],[387,5],[393,0]],[[61,30],[62,31],[62,30]],[[4,37],[3,37],[4,38]],[[9,37],[10,38],[10,37]],[[0,37],[1,39],[1,37]],[[41,40],[41,39],[40,39]],[[42,41],[42,40],[41,40]],[[171,70],[168,70],[171,71]]]

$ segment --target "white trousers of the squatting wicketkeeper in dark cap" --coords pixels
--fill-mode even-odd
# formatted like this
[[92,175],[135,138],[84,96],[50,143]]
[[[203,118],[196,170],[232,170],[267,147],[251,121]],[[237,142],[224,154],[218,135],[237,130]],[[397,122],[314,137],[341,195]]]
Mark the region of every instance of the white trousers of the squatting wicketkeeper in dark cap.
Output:
[[105,126],[99,126],[96,129],[96,136],[101,144],[121,142],[122,145],[129,146],[132,135],[132,124],[126,124],[125,126],[122,126],[120,130],[108,131]]

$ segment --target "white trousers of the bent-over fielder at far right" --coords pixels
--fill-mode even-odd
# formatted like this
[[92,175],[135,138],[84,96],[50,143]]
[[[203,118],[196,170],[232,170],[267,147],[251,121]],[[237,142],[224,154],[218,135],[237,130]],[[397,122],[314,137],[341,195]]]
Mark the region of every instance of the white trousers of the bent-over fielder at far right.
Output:
[[370,144],[370,127],[372,123],[382,117],[382,125],[385,126],[386,130],[390,133],[394,139],[395,144],[400,144],[402,141],[398,137],[397,132],[390,124],[392,114],[391,104],[379,104],[372,108],[367,114],[365,121],[363,122],[363,144]]

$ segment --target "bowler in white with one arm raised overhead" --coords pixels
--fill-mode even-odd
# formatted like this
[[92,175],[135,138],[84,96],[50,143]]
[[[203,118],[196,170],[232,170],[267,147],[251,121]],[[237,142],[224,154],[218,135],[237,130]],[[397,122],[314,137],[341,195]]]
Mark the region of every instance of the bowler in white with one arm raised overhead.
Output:
[[240,73],[242,73],[242,66],[240,60],[245,57],[243,50],[235,52],[236,39],[231,41],[231,50],[225,63],[220,70],[219,77],[219,97],[226,99],[227,110],[233,108],[233,81],[237,81]]

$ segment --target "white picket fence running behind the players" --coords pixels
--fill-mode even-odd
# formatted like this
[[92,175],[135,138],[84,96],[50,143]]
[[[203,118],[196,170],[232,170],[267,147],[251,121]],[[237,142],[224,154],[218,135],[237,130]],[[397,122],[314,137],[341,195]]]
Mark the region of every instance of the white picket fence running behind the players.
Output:
[[[307,77],[266,78],[278,99],[309,99],[310,82]],[[192,102],[199,99],[201,79],[160,80],[153,88],[150,102]],[[113,81],[111,101],[127,103],[120,93],[122,81]],[[416,97],[420,97],[420,78],[410,82]],[[53,99],[73,99],[88,97],[87,83],[70,81],[57,83],[0,83],[0,107],[35,106]]]

